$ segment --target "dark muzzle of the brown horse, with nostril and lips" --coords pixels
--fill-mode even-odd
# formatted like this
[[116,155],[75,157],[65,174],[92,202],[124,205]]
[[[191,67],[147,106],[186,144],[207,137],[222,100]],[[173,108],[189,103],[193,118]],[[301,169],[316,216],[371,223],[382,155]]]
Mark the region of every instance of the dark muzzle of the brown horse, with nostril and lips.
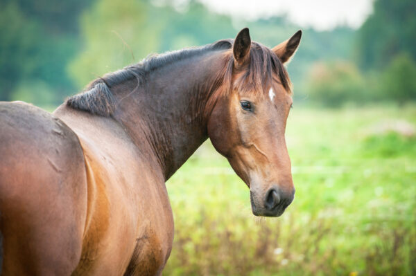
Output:
[[250,190],[252,212],[255,216],[279,217],[292,203],[294,197],[295,189],[293,192],[284,192],[277,185],[272,185],[266,192],[266,196],[259,196]]

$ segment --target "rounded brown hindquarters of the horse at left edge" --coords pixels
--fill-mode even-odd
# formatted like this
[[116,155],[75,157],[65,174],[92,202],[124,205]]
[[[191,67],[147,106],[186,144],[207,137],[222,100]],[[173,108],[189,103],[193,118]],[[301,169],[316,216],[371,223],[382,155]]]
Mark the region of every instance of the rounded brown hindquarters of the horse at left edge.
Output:
[[0,102],[2,275],[67,275],[79,261],[86,216],[83,149],[61,120]]

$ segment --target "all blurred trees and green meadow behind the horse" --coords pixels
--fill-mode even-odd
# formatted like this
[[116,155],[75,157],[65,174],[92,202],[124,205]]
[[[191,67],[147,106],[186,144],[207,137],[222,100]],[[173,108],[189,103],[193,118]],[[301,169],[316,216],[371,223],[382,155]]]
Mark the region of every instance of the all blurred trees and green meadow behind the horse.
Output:
[[[416,275],[416,1],[376,0],[353,30],[304,29],[288,71],[296,200],[257,219],[209,142],[168,191],[175,244],[164,275]],[[198,1],[0,1],[0,100],[53,110],[150,53],[235,37],[275,46],[285,17],[235,21]]]

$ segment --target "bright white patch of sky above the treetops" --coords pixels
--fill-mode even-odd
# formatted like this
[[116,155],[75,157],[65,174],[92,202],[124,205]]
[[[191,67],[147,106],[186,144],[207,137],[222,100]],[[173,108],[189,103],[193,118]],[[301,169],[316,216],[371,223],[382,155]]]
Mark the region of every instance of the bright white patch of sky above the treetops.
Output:
[[[187,0],[178,0],[178,2]],[[338,25],[358,28],[372,12],[374,0],[198,0],[211,10],[237,19],[287,15],[301,27],[329,30]]]

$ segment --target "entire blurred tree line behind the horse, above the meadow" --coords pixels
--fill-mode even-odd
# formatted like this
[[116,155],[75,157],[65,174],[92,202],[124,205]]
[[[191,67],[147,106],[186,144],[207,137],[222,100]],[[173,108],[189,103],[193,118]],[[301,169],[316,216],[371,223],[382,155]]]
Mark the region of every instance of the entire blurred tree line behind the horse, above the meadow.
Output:
[[[304,30],[288,66],[296,100],[331,107],[416,100],[415,10],[415,1],[377,0],[358,30]],[[5,0],[0,100],[55,106],[150,53],[232,38],[245,26],[253,40],[270,47],[299,29],[285,17],[236,22],[195,0],[182,7],[146,0]]]

